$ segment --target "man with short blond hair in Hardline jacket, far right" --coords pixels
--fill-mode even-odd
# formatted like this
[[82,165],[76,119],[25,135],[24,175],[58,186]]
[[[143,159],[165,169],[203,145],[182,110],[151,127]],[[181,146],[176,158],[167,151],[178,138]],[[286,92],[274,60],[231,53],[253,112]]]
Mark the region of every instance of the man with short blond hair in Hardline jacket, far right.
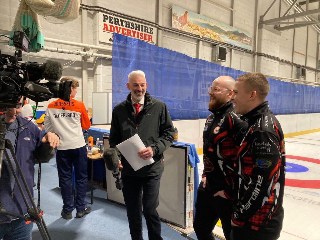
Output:
[[282,229],[285,147],[281,126],[265,101],[269,83],[261,73],[237,78],[234,104],[249,123],[237,154],[232,240],[275,240]]

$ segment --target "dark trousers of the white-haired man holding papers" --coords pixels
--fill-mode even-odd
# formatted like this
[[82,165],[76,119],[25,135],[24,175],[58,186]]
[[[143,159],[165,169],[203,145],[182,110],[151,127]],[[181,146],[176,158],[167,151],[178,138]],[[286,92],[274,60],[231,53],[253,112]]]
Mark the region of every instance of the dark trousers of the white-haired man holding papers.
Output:
[[142,217],[147,222],[149,240],[163,240],[161,222],[156,210],[159,205],[159,188],[162,174],[152,177],[133,177],[122,175],[124,202],[132,240],[142,240]]

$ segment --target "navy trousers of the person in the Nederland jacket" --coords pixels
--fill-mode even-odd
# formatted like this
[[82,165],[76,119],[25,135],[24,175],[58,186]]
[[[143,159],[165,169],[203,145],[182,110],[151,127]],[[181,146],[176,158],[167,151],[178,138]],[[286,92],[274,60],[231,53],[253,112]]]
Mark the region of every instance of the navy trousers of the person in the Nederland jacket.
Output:
[[57,169],[59,186],[63,200],[63,211],[72,212],[74,202],[72,197],[72,164],[75,170],[76,179],[76,210],[84,210],[86,207],[85,194],[87,191],[87,167],[88,158],[86,147],[57,150]]

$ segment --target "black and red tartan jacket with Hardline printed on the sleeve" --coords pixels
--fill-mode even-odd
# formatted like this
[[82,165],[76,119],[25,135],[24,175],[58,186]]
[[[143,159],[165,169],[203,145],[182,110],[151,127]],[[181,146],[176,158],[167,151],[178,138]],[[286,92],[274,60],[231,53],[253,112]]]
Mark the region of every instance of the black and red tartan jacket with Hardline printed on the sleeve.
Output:
[[280,232],[284,216],[284,134],[267,101],[241,119],[250,127],[237,154],[232,220],[241,227]]

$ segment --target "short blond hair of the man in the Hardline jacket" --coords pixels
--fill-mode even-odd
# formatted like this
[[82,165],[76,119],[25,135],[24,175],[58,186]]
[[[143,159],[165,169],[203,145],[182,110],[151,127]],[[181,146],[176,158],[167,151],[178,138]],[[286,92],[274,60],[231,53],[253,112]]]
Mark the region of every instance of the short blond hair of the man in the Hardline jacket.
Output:
[[249,91],[256,91],[261,100],[265,100],[268,96],[270,84],[262,73],[247,73],[238,76],[236,81],[244,81]]

